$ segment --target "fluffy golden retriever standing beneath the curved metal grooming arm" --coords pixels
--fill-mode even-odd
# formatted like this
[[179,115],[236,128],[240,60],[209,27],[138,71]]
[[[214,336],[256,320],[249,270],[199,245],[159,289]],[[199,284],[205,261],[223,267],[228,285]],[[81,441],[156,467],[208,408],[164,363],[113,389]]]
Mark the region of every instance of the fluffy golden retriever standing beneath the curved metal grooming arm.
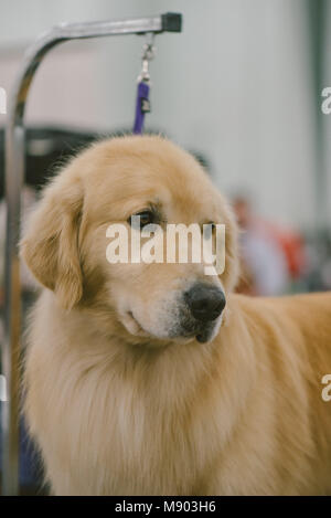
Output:
[[[224,272],[110,264],[107,229],[135,214],[224,224]],[[52,494],[331,494],[331,294],[235,294],[236,222],[191,155],[93,145],[45,188],[21,255],[43,287],[24,414]]]

